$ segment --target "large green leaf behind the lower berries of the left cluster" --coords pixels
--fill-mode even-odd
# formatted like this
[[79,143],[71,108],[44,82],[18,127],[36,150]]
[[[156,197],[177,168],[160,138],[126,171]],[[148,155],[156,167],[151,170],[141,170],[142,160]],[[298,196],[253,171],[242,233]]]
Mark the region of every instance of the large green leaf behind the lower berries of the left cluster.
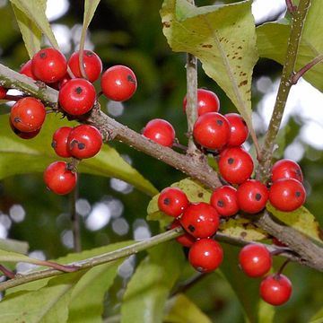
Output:
[[[0,116],[0,179],[17,174],[43,172],[50,162],[58,159],[50,147],[52,135],[58,127],[73,125],[75,123],[49,114],[40,134],[31,140],[23,140],[13,134],[9,127],[8,116]],[[105,144],[95,157],[83,160],[78,170],[125,180],[150,196],[158,193],[147,179],[144,179],[108,144]]]

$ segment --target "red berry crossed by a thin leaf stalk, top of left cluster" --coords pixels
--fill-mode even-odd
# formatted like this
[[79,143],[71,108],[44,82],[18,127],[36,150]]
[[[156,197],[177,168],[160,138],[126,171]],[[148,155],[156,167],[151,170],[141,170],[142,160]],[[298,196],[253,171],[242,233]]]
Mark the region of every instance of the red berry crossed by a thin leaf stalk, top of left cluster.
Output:
[[[79,56],[79,51],[74,52],[68,60],[68,65],[75,77],[82,77]],[[91,50],[83,50],[83,65],[88,80],[91,83],[96,81],[102,72],[102,62],[100,57]]]

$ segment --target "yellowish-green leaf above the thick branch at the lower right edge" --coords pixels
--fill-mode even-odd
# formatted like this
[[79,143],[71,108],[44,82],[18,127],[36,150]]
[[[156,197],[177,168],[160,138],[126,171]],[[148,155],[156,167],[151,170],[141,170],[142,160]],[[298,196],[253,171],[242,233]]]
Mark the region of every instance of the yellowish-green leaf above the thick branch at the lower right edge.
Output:
[[273,205],[267,203],[266,209],[273,214],[278,220],[291,226],[297,231],[301,231],[313,240],[323,243],[320,237],[319,223],[315,219],[315,216],[310,213],[308,209],[301,206],[293,212],[282,212],[275,209]]

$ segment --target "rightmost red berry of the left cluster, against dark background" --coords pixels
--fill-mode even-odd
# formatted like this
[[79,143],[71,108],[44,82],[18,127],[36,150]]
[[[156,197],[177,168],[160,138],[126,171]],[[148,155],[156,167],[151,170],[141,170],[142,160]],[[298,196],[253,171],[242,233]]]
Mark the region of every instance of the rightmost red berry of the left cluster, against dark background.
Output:
[[108,99],[128,100],[134,95],[137,87],[135,73],[124,65],[112,66],[102,74],[100,86]]

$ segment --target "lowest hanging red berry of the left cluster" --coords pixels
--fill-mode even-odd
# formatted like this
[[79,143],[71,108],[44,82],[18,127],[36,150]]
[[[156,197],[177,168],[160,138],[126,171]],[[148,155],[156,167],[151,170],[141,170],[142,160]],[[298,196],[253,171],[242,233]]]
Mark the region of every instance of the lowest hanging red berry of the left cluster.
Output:
[[76,185],[77,174],[66,167],[66,162],[52,162],[44,171],[47,187],[58,195],[70,193]]

